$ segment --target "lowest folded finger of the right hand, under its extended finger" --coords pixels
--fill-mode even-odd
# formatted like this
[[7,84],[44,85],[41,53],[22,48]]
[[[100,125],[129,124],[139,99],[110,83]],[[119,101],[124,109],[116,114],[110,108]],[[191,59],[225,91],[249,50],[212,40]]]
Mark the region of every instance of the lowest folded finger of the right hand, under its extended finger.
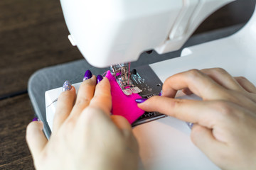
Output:
[[216,160],[220,156],[218,151],[224,152],[226,148],[224,143],[215,139],[212,130],[201,125],[193,125],[191,140],[211,160]]

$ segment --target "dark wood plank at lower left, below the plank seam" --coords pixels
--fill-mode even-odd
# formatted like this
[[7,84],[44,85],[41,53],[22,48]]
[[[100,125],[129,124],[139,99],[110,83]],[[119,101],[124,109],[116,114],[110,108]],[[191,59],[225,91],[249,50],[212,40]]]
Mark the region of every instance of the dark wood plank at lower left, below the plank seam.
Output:
[[0,101],[0,169],[33,169],[25,140],[26,125],[33,119],[28,94]]

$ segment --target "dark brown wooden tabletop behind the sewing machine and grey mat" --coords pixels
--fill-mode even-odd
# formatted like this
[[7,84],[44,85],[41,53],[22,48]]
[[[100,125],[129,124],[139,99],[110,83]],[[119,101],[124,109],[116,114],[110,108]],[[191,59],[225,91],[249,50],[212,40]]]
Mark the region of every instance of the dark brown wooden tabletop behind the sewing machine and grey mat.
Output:
[[[246,23],[254,7],[255,1],[235,1],[210,16],[196,34]],[[0,169],[33,169],[25,140],[34,115],[28,79],[43,67],[82,59],[67,35],[59,1],[0,1]]]

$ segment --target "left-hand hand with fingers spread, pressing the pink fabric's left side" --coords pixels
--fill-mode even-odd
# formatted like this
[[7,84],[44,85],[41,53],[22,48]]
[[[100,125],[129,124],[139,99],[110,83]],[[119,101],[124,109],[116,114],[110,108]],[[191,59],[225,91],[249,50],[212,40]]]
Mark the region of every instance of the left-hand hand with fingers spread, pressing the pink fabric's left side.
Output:
[[26,140],[36,169],[137,169],[138,146],[131,125],[110,115],[111,107],[107,78],[97,85],[95,76],[85,80],[77,97],[73,86],[63,91],[50,140],[41,121],[28,125]]

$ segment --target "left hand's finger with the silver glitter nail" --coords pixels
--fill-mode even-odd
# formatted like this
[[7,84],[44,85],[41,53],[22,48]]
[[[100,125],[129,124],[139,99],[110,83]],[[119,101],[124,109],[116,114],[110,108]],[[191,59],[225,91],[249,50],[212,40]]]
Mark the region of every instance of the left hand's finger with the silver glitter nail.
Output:
[[53,134],[58,131],[63,122],[68,118],[75,102],[75,87],[70,91],[63,91],[58,97],[55,115],[53,118]]

